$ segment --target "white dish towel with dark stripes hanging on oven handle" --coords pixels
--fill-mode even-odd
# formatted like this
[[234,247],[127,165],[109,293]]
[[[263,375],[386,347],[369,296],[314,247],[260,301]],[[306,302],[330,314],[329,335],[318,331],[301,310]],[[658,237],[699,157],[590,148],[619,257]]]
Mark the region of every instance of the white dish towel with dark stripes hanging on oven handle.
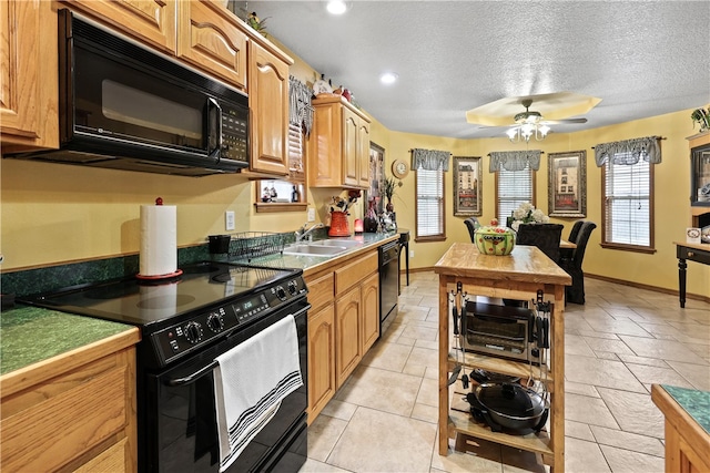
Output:
[[216,361],[214,394],[223,472],[276,414],[281,401],[303,385],[294,317],[284,317]]

